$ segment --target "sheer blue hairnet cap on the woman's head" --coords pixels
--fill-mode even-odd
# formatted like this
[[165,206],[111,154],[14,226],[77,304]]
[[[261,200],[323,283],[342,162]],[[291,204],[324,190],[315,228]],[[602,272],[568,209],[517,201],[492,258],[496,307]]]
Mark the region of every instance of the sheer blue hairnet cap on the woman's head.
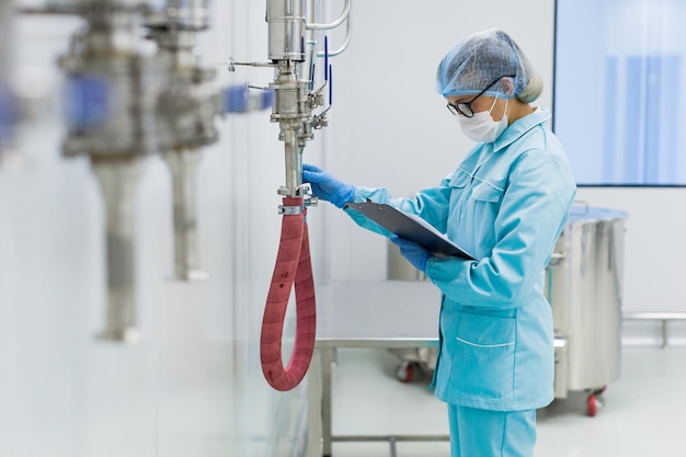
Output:
[[[504,77],[513,82],[511,93]],[[487,88],[484,95],[516,96],[524,103],[533,102],[542,92],[536,68],[510,35],[496,28],[460,41],[443,58],[436,73],[436,91],[444,98],[477,95]]]

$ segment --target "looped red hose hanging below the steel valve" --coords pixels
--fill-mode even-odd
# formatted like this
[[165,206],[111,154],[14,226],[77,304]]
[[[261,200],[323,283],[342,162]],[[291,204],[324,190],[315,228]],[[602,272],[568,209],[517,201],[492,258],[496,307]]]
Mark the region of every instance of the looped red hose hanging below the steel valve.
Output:
[[[284,206],[302,207],[302,197],[284,197]],[[307,373],[315,351],[317,309],[309,235],[301,214],[285,214],[281,245],[266,298],[260,338],[260,361],[266,381],[276,390],[290,390]],[[290,289],[296,289],[296,339],[288,366],[282,361],[282,338]]]

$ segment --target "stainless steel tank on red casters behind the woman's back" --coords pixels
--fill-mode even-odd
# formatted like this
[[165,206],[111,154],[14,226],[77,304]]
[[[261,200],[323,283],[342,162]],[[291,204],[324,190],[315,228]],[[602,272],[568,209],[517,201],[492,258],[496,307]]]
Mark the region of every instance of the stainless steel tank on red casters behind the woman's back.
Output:
[[601,393],[619,377],[626,218],[620,210],[574,206],[547,267],[556,398],[570,390]]

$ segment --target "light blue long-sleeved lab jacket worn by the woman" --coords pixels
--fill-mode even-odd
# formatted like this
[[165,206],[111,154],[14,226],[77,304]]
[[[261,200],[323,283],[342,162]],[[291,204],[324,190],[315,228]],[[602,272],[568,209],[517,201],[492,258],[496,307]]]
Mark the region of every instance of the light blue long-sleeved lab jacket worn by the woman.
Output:
[[[426,276],[442,292],[441,350],[432,386],[451,404],[533,410],[553,399],[553,329],[545,269],[576,186],[548,110],[478,144],[457,170],[413,198],[357,187],[367,198],[415,214],[476,261],[433,256]],[[361,226],[389,235],[359,213]],[[422,306],[422,304],[418,304]]]

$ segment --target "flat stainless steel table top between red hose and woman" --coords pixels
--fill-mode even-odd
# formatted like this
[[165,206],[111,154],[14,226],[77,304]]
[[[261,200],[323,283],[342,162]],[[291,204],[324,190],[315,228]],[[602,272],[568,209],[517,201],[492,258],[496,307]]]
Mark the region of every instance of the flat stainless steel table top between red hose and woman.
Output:
[[333,283],[318,292],[316,346],[437,346],[439,311],[426,281]]

